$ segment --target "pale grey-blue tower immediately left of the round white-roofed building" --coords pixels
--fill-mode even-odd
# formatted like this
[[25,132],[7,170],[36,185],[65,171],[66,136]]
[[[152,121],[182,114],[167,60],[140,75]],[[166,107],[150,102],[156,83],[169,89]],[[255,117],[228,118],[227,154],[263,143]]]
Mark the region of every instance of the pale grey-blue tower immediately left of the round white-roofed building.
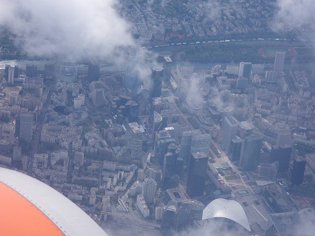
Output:
[[233,117],[225,117],[223,122],[222,147],[229,151],[232,139],[236,138],[237,121]]

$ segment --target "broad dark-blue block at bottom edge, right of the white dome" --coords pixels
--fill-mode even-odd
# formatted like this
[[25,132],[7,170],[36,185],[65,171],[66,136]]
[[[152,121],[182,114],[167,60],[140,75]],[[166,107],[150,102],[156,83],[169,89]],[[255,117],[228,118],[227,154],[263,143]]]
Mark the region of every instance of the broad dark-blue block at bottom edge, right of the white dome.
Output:
[[269,214],[265,236],[298,236],[299,223],[300,217],[296,212]]

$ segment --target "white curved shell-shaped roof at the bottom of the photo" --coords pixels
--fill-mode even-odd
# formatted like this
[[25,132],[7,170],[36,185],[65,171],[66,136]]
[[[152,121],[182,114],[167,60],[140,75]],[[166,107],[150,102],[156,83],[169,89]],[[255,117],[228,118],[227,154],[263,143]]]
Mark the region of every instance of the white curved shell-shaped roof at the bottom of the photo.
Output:
[[207,207],[204,208],[202,220],[217,217],[235,221],[248,231],[251,231],[251,227],[243,207],[234,200],[218,198],[212,201]]

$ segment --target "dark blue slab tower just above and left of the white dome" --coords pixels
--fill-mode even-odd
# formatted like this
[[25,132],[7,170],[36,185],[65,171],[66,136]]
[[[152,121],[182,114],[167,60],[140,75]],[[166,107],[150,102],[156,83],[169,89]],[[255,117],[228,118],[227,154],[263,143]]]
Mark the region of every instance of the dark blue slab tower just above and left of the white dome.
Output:
[[190,197],[203,196],[207,164],[208,156],[204,152],[191,153],[186,190]]

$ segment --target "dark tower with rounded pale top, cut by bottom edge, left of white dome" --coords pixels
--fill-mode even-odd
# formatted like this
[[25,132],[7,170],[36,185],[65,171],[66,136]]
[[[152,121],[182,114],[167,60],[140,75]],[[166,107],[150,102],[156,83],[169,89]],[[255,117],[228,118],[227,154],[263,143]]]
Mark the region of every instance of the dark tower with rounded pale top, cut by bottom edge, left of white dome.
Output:
[[170,201],[164,210],[159,233],[162,236],[173,236],[177,231],[178,205]]

